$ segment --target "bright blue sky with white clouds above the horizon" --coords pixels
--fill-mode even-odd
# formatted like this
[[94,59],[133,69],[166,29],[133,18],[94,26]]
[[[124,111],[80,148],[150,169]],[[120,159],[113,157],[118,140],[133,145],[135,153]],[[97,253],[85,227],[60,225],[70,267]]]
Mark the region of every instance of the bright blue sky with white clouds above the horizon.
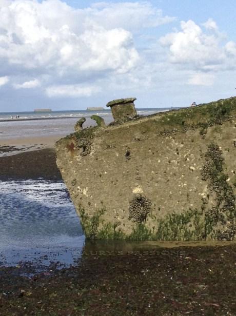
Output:
[[235,0],[0,0],[0,112],[236,94]]

